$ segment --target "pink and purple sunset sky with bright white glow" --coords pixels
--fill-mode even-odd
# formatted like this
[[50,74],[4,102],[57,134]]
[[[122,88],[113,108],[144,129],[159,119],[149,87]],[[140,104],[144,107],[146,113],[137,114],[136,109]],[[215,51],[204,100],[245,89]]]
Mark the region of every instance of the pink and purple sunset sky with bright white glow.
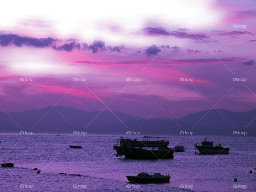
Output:
[[253,0],[1,4],[0,111],[256,108]]

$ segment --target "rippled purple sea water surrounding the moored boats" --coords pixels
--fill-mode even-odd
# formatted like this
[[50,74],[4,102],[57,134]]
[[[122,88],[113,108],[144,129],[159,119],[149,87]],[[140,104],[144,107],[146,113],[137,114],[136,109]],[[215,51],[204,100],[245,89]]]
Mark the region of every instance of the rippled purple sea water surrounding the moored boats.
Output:
[[[186,151],[159,161],[117,158],[113,144],[120,136],[1,133],[1,162],[14,167],[0,168],[0,191],[256,191],[256,173],[249,173],[256,167],[255,137],[207,136],[215,145],[221,141],[230,148],[228,155],[209,156],[194,149],[206,136],[164,135],[170,146],[182,144]],[[71,149],[72,144],[83,148]],[[140,172],[170,173],[170,183],[131,186],[125,176]]]

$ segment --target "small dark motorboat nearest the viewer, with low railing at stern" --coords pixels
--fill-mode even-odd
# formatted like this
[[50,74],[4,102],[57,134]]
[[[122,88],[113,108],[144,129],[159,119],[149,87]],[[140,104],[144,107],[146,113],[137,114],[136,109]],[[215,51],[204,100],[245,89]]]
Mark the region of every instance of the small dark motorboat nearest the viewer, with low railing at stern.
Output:
[[170,181],[170,175],[169,174],[160,174],[160,173],[154,173],[154,174],[148,174],[148,173],[139,173],[137,176],[126,176],[128,181],[135,183],[164,183]]

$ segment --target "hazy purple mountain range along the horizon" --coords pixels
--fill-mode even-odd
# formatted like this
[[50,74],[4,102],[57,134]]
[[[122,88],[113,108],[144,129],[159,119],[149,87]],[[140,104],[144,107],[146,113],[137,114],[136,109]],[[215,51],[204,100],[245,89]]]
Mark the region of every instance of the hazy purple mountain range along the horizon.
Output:
[[0,131],[86,131],[122,135],[126,131],[139,131],[143,135],[179,134],[180,131],[193,131],[197,135],[232,135],[233,131],[246,131],[247,135],[256,135],[256,109],[246,112],[223,109],[201,111],[173,121],[170,118],[133,117],[121,112],[86,112],[64,106],[55,108],[11,112],[8,115],[0,112]]

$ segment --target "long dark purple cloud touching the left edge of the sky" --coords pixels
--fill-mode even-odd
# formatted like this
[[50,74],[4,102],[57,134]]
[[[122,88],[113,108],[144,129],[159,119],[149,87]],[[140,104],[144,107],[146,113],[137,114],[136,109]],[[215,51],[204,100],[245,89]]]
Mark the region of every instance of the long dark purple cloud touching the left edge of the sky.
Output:
[[49,47],[58,39],[53,39],[52,37],[48,38],[33,38],[33,37],[20,37],[17,34],[2,34],[0,36],[0,45],[7,46],[13,44],[16,47],[33,46],[33,47]]

